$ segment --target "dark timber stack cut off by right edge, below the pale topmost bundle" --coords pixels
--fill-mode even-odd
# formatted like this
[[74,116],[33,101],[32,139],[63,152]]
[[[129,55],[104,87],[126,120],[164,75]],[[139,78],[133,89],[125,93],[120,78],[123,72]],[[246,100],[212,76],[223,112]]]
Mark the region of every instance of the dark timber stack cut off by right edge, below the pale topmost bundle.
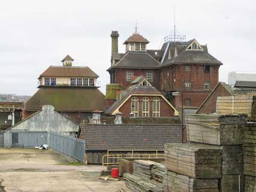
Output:
[[244,174],[256,176],[256,123],[247,123],[243,144]]

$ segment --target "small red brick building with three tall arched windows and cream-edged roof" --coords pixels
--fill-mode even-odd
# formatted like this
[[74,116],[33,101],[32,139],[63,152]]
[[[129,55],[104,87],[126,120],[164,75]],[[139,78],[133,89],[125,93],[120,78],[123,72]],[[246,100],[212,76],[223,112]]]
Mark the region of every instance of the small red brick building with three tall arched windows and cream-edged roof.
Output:
[[116,92],[116,101],[105,111],[121,112],[123,117],[172,117],[178,111],[143,76],[133,78],[129,87]]

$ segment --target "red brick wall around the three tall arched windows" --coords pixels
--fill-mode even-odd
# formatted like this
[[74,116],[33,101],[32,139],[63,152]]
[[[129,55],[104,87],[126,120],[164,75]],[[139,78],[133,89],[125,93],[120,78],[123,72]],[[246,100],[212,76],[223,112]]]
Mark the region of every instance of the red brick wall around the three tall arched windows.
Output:
[[[142,98],[144,96],[136,96],[139,99],[139,117],[142,117]],[[149,98],[149,117],[153,116],[153,98],[154,96],[146,96]],[[132,97],[131,97],[132,98]],[[120,107],[119,111],[122,113],[122,117],[130,117],[131,113],[131,98]],[[174,110],[167,104],[163,98],[160,98],[160,117],[172,117],[174,116]]]

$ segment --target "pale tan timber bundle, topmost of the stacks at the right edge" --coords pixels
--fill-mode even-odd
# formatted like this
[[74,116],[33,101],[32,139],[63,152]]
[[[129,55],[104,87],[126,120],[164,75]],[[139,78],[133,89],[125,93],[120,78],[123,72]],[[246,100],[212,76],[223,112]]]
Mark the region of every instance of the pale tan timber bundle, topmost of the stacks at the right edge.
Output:
[[248,117],[256,117],[256,96],[217,97],[216,111],[219,114],[247,114]]

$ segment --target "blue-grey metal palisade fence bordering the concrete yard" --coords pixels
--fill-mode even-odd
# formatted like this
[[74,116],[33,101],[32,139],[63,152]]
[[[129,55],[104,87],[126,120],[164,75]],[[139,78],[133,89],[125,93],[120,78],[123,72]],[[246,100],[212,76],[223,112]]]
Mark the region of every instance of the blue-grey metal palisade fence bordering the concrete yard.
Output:
[[76,137],[47,131],[0,131],[0,147],[31,148],[48,144],[51,149],[85,162],[85,141]]

